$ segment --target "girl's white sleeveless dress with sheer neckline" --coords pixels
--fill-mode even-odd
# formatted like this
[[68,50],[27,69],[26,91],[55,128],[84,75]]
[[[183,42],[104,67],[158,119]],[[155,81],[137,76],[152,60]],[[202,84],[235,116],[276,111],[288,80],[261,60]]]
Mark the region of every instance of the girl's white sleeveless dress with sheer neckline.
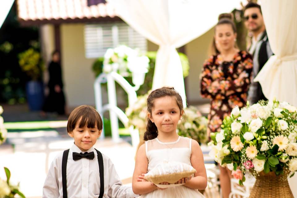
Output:
[[[178,161],[191,164],[192,139],[179,136],[175,142],[161,142],[158,138],[145,142],[146,157],[149,160],[148,171],[152,170],[162,161]],[[198,197],[204,196],[195,189],[185,186],[169,187],[164,190],[155,190],[140,196],[141,198],[178,198],[178,197]]]

